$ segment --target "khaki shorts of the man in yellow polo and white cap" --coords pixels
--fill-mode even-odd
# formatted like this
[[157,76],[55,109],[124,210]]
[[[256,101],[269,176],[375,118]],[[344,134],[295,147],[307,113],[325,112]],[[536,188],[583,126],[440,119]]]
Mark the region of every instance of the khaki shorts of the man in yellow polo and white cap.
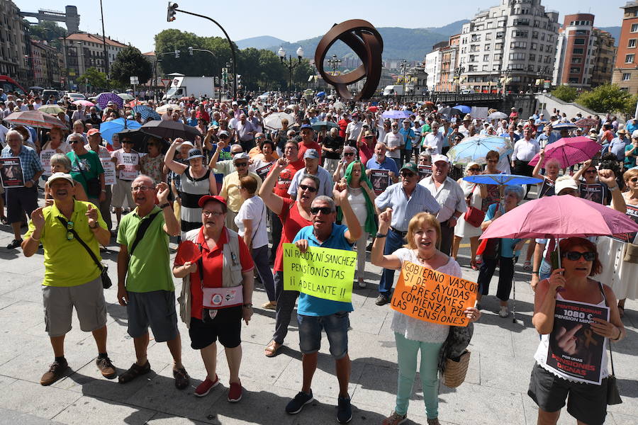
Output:
[[77,286],[43,285],[42,298],[45,330],[50,337],[65,335],[71,330],[73,307],[82,331],[95,331],[106,324],[106,302],[100,276]]

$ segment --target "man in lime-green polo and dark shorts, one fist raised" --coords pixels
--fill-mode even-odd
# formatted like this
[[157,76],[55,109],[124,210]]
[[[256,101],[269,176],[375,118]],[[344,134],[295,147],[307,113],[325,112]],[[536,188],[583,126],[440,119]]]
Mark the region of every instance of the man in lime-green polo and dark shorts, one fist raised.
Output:
[[[188,387],[190,378],[181,364],[181,338],[177,330],[175,287],[169,266],[169,235],[177,236],[179,222],[168,202],[169,186],[149,176],[131,183],[137,207],[125,215],[118,229],[118,302],[126,306],[128,334],[135,344],[135,363],[119,377],[125,384],[150,372],[147,359],[148,327],[155,341],[167,342],[173,356],[175,386]],[[158,205],[155,205],[157,196]],[[150,223],[149,223],[150,220]],[[146,231],[140,227],[147,226]]]

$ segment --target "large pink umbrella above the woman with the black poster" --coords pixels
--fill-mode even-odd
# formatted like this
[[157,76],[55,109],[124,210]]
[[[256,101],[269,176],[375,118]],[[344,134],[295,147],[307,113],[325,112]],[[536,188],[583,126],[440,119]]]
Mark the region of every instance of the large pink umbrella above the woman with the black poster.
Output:
[[545,196],[506,212],[481,235],[488,238],[561,238],[612,236],[638,232],[627,215],[571,195]]

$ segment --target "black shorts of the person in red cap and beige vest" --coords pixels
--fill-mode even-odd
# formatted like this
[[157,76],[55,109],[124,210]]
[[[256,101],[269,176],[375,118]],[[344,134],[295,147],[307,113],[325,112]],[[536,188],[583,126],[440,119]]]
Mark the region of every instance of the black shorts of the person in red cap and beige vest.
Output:
[[[208,314],[204,309],[202,314]],[[235,348],[242,342],[242,317],[243,307],[220,308],[214,319],[203,322],[201,319],[191,317],[189,336],[191,336],[191,348],[201,350],[213,344],[217,339],[226,348]]]

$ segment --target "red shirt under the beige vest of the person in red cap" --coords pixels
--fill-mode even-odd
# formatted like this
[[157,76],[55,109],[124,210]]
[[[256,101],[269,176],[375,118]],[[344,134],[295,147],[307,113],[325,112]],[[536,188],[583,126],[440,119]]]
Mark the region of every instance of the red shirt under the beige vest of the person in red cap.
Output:
[[[203,285],[206,288],[222,287],[222,264],[224,244],[228,243],[228,232],[225,227],[222,230],[218,245],[212,251],[208,249],[208,244],[203,237],[203,227],[199,230],[195,244],[201,244],[201,261],[203,263]],[[250,255],[250,249],[246,246],[244,239],[239,238],[240,247],[240,263],[242,264],[242,273],[251,271],[254,268],[254,262]],[[175,256],[175,266],[182,266],[190,259],[181,258],[179,250]],[[201,292],[201,283],[199,281],[199,271],[191,273],[191,317],[201,319],[203,310],[203,293]]]

